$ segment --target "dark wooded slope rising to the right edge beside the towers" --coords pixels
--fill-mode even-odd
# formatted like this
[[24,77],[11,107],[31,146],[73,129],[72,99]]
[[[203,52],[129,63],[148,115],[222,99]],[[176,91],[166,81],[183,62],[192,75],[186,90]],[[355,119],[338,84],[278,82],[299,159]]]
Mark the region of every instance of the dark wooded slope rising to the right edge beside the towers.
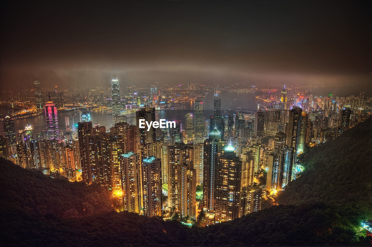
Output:
[[372,205],[371,118],[307,151],[305,172],[278,196],[279,204]]

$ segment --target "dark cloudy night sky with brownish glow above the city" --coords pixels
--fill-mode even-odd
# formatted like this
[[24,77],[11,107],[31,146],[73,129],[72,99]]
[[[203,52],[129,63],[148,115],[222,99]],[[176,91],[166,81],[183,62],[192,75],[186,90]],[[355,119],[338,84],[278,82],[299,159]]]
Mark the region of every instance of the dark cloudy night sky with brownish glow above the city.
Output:
[[2,3],[1,89],[112,77],[371,86],[368,1],[102,3]]

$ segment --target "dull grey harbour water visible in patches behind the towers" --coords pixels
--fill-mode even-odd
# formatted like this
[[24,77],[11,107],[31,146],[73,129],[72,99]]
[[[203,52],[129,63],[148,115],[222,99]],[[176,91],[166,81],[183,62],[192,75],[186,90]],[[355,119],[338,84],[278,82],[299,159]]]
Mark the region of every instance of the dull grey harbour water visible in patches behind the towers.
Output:
[[[254,97],[257,93],[229,93],[221,92],[218,97],[221,98],[221,113],[224,111],[232,113],[239,110],[255,110],[257,109],[257,101]],[[213,93],[209,93],[207,97],[199,98],[198,100],[204,101],[204,116],[213,115]],[[181,120],[182,123],[185,122],[185,115],[187,113],[193,112],[193,102],[183,101],[181,102],[185,108],[173,109],[167,111],[158,111],[155,114],[155,118],[167,119],[169,121]],[[73,116],[74,111],[68,112],[58,112],[58,126],[61,131],[66,129],[65,116]],[[129,124],[133,123],[133,117],[135,117],[135,112],[126,113],[126,121]],[[90,117],[93,123],[100,123],[101,126],[106,126],[109,129],[112,126],[112,115],[108,111],[91,111]],[[32,118],[16,119],[14,121],[16,132],[20,129],[24,129],[26,124],[32,125],[33,134],[38,134],[42,129],[47,128],[45,123],[45,115],[39,115]]]

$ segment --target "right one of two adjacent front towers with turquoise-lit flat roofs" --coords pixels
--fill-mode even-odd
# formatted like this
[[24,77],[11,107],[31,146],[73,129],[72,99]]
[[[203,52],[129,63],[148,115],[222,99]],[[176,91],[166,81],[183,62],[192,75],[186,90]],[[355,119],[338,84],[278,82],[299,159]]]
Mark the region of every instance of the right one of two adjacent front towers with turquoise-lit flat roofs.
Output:
[[161,216],[161,159],[146,157],[141,169],[143,215]]

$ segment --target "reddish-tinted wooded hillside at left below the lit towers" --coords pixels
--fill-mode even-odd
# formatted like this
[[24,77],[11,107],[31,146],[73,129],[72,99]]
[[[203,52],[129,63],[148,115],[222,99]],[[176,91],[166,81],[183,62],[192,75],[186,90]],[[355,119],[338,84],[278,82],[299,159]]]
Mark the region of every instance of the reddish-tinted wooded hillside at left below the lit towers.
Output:
[[0,159],[0,188],[1,212],[72,217],[113,210],[107,190],[100,185],[53,179],[5,159]]

